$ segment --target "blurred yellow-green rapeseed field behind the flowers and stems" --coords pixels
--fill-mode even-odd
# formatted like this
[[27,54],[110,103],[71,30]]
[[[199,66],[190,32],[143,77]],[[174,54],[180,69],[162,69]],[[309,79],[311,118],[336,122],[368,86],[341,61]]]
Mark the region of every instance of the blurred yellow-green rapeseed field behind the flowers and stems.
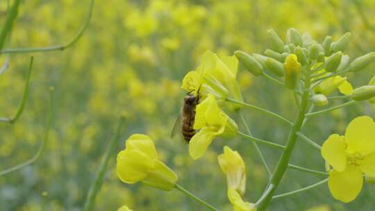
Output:
[[[127,116],[117,151],[132,133],[153,137],[160,159],[176,171],[179,183],[202,199],[231,210],[226,178],[217,164],[224,144],[238,150],[247,167],[247,194],[256,201],[267,184],[267,173],[253,146],[246,140],[215,140],[206,155],[193,162],[183,141],[169,138],[184,92],[181,79],[197,67],[206,50],[232,55],[235,50],[263,53],[267,29],[282,37],[294,27],[322,41],[352,32],[350,56],[375,49],[375,2],[372,0],[317,1],[96,1],[90,26],[65,51],[33,53],[31,94],[16,124],[0,124],[0,169],[23,162],[38,150],[47,121],[48,87],[56,87],[54,120],[42,158],[33,166],[0,177],[0,210],[81,210],[101,155],[121,112]],[[22,2],[7,47],[40,47],[66,42],[74,36],[88,12],[89,1]],[[7,1],[0,1],[0,24],[6,19]],[[21,101],[28,54],[12,54],[10,67],[0,75],[0,115],[12,115]],[[6,55],[0,56],[3,64]],[[374,65],[359,76],[349,75],[354,87],[367,84]],[[238,81],[245,101],[292,119],[297,111],[288,90],[264,78],[240,71]],[[332,104],[331,104],[332,105]],[[304,133],[322,144],[331,133],[344,133],[358,115],[374,117],[369,103],[314,117]],[[231,115],[234,119],[238,118]],[[260,113],[246,112],[256,137],[285,143],[288,126]],[[271,167],[279,151],[261,146]],[[297,143],[292,162],[324,169],[319,151]],[[320,180],[288,170],[278,192]],[[42,192],[48,192],[47,197]],[[374,185],[365,185],[356,201],[335,201],[322,185],[317,189],[277,199],[270,210],[373,210]],[[126,185],[115,174],[112,156],[96,210],[201,210],[194,201],[173,190],[163,192],[144,185]]]

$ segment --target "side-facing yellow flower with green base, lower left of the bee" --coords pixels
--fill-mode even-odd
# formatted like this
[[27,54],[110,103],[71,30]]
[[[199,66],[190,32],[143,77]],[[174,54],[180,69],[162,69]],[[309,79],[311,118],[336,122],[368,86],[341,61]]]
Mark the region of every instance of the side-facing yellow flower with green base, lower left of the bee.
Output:
[[163,190],[174,188],[177,176],[158,160],[158,153],[150,137],[133,134],[125,144],[126,149],[117,155],[117,176],[124,183],[142,181]]

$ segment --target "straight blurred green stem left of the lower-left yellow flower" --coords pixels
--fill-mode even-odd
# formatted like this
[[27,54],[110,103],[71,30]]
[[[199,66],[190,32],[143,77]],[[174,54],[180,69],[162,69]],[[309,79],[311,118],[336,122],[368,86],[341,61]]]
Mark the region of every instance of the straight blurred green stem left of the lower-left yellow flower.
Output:
[[85,201],[85,207],[84,207],[85,211],[94,209],[95,198],[101,188],[101,185],[103,184],[103,178],[107,170],[108,161],[110,160],[111,155],[113,155],[113,151],[116,148],[116,143],[117,143],[117,140],[119,140],[119,135],[120,135],[122,125],[124,124],[124,120],[125,120],[124,117],[120,117],[119,123],[117,124],[117,128],[115,130],[115,135],[113,135],[110,142],[108,143],[106,152],[104,153],[103,158],[101,159],[99,170],[90,186],[88,196]]

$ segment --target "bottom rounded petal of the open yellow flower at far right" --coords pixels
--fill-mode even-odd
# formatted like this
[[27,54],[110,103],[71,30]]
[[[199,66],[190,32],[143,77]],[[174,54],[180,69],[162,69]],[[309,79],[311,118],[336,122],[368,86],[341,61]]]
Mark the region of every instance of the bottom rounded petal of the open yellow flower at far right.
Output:
[[328,178],[328,187],[333,198],[344,203],[356,199],[362,189],[363,177],[358,167],[347,165],[344,171],[331,171]]

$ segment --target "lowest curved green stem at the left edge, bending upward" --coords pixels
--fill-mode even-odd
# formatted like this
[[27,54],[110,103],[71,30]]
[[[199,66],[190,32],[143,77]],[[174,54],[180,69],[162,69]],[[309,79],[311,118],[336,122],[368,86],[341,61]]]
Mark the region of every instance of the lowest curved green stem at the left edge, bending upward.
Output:
[[44,132],[44,139],[43,139],[42,144],[40,144],[37,153],[35,153],[33,158],[31,158],[30,160],[26,160],[26,162],[18,164],[15,167],[11,167],[9,169],[5,169],[3,171],[0,171],[0,176],[10,174],[14,171],[17,171],[19,169],[22,169],[22,168],[24,168],[28,165],[31,165],[31,164],[37,162],[38,159],[40,158],[40,156],[43,154],[44,149],[46,148],[47,140],[48,140],[49,129],[51,128],[51,121],[52,121],[52,114],[53,114],[52,92],[53,92],[53,89],[50,90],[50,94],[49,94],[49,105],[50,105],[49,107],[50,108],[49,108],[49,115],[48,115],[48,119],[47,119],[46,131]]

